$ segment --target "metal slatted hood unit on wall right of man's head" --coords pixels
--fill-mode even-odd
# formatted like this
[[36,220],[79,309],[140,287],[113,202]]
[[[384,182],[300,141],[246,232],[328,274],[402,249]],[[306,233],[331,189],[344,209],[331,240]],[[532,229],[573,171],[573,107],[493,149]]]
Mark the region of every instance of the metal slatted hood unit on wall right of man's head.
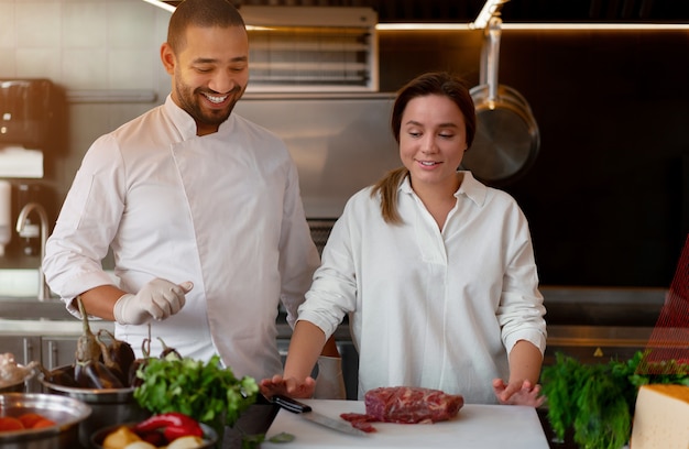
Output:
[[[175,3],[144,0],[167,10]],[[371,8],[240,6],[249,33],[248,92],[375,92],[378,14]]]

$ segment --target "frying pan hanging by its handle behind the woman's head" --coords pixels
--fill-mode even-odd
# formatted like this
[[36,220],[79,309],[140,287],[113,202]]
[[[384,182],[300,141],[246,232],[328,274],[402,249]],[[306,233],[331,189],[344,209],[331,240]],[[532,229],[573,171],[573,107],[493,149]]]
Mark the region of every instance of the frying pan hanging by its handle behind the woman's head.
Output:
[[489,185],[506,185],[534,163],[540,146],[538,124],[524,97],[497,84],[502,20],[491,18],[481,56],[481,85],[470,94],[477,111],[477,133],[462,167]]

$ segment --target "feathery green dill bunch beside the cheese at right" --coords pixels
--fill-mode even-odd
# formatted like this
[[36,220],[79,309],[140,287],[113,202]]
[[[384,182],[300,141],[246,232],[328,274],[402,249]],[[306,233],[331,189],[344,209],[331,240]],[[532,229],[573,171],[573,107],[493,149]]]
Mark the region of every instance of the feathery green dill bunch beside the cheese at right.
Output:
[[646,384],[689,385],[689,365],[675,360],[648,362],[637,351],[627,361],[583,364],[556,353],[540,383],[547,397],[548,421],[564,440],[568,429],[586,449],[620,449],[630,440],[638,388]]

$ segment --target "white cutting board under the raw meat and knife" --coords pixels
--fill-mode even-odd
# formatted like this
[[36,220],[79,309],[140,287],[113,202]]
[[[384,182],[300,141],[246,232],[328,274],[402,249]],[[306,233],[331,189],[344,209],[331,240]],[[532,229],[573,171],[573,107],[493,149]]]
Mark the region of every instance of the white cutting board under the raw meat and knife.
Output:
[[[341,413],[364,413],[362,401],[302,401],[314,412],[341,419]],[[262,449],[332,448],[468,448],[548,449],[536,409],[516,405],[466,404],[457,417],[436,424],[373,423],[376,432],[357,437],[330,430],[281,409],[261,445]],[[288,443],[267,439],[280,432],[295,436]]]

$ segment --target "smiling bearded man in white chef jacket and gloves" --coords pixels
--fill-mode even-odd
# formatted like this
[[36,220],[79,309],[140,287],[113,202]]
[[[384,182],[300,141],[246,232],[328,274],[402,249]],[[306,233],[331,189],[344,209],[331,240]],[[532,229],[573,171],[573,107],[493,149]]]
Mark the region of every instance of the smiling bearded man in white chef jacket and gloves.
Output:
[[[88,150],[47,242],[46,280],[75,316],[79,296],[136,351],[150,325],[154,354],[160,337],[261,379],[282,370],[278,303],[294,326],[319,263],[296,166],[277,136],[232,113],[249,43],[229,1],[181,3],[161,58],[171,95]],[[101,269],[109,247],[117,284]],[[337,355],[332,341],[324,354]]]

